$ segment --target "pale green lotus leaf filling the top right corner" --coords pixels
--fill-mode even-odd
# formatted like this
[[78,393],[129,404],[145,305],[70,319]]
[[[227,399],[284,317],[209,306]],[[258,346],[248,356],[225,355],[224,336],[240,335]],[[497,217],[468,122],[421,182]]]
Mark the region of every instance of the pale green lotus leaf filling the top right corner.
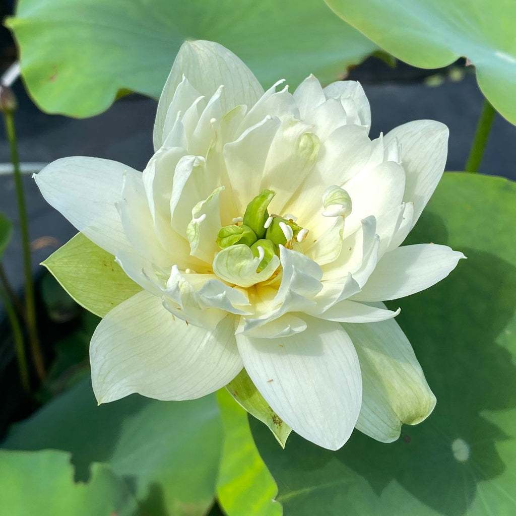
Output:
[[516,123],[513,0],[326,0],[382,49],[420,68],[464,56],[493,106]]

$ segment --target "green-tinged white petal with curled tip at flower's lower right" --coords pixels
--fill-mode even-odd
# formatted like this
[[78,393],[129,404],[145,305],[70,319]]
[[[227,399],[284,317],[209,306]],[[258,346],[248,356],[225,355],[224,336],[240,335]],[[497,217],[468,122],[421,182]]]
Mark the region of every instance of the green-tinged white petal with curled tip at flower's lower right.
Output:
[[436,397],[394,319],[343,327],[362,371],[362,409],[356,428],[378,441],[395,441],[402,423],[416,425],[428,417]]

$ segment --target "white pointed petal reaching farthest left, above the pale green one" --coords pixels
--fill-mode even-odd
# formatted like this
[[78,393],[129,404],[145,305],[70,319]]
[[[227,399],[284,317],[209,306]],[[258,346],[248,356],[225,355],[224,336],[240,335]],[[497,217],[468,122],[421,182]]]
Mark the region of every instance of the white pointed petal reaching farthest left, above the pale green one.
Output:
[[94,244],[111,254],[130,250],[115,203],[122,199],[124,174],[141,172],[109,159],[58,159],[34,175],[46,202]]

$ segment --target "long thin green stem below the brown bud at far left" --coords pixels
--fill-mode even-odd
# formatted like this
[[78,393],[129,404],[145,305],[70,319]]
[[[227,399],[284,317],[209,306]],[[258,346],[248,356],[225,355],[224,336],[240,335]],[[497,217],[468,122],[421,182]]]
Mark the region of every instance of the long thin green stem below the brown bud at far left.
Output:
[[18,157],[18,146],[16,142],[16,132],[14,130],[14,117],[12,111],[4,110],[5,128],[7,139],[9,140],[9,148],[11,151],[11,160],[14,168],[14,186],[16,188],[16,197],[18,201],[18,213],[20,218],[20,231],[23,245],[23,267],[25,271],[25,305],[26,305],[26,323],[30,343],[30,351],[36,368],[36,374],[40,380],[45,378],[45,367],[43,362],[43,354],[38,338],[37,320],[36,320],[36,301],[34,296],[34,280],[32,275],[32,267],[30,264],[30,239],[27,208],[25,206],[25,195],[23,193],[23,180],[20,171],[20,159]]

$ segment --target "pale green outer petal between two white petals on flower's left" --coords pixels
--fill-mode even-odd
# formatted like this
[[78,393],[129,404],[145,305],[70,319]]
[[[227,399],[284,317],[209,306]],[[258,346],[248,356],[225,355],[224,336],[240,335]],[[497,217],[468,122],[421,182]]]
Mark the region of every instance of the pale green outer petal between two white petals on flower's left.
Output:
[[141,291],[115,262],[115,256],[77,233],[41,265],[82,307],[104,317],[112,308]]

